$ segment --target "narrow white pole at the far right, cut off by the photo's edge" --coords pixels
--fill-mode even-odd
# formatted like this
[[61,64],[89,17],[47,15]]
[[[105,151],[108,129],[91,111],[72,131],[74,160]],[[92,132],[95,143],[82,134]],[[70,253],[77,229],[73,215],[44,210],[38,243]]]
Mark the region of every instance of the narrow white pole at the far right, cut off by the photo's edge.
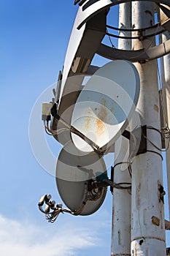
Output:
[[[170,34],[168,31],[162,35],[162,41],[170,39]],[[170,54],[167,54],[163,57],[163,99],[166,99],[164,102],[164,107],[166,107],[166,118],[168,124],[170,125]],[[168,145],[166,145],[168,146]],[[167,173],[167,183],[168,183],[168,197],[169,197],[169,219],[170,219],[170,147],[166,151],[166,173]]]

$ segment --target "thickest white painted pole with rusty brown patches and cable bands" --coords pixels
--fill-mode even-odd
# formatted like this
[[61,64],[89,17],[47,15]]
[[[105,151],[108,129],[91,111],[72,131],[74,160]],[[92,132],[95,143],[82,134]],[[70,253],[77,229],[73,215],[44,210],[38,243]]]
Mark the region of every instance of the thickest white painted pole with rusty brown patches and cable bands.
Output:
[[[153,24],[153,3],[134,1],[132,3],[133,27],[139,29]],[[155,40],[152,38],[144,41],[136,39],[133,43],[133,48],[134,50],[149,48],[154,44]],[[141,80],[137,110],[142,117],[142,125],[160,129],[156,65],[156,61],[136,64]],[[147,138],[161,148],[161,135],[157,131],[147,129]],[[132,256],[166,255],[164,205],[159,192],[160,186],[163,186],[160,153],[158,149],[147,141],[147,153],[139,154],[132,165]]]

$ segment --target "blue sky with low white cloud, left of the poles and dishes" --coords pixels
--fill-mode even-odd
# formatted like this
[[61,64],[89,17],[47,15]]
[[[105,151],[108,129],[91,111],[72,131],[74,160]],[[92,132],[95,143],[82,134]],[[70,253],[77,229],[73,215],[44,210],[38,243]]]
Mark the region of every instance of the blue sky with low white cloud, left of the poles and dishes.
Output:
[[[103,206],[90,217],[64,214],[49,224],[37,208],[46,193],[61,200],[55,178],[43,170],[31,151],[29,119],[37,98],[56,82],[62,69],[76,12],[73,0],[0,1],[3,256],[110,255],[109,191]],[[98,59],[99,65],[101,62]],[[52,139],[49,143],[57,157],[61,146]]]

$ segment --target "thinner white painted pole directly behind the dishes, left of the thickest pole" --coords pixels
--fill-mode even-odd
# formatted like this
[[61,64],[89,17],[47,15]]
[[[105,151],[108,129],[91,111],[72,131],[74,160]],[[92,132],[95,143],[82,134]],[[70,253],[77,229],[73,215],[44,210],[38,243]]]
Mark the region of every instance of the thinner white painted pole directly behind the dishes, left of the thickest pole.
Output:
[[[120,4],[119,27],[122,29],[131,28],[131,3]],[[129,37],[131,32],[120,31],[120,36]],[[118,48],[130,50],[131,39],[119,39]],[[122,136],[115,143],[115,183],[131,182],[127,163],[119,165],[119,163],[127,161],[128,140]],[[123,189],[113,189],[111,249],[112,255],[131,255],[131,195]]]

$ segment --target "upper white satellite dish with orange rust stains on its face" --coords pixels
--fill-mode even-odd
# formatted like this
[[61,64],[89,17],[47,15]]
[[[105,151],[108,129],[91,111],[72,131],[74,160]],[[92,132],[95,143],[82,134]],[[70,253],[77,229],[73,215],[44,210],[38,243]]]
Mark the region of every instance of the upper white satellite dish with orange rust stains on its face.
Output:
[[[139,74],[129,61],[111,61],[98,69],[77,98],[72,126],[104,151],[128,126],[139,99]],[[72,133],[72,141],[82,151],[93,148]]]

